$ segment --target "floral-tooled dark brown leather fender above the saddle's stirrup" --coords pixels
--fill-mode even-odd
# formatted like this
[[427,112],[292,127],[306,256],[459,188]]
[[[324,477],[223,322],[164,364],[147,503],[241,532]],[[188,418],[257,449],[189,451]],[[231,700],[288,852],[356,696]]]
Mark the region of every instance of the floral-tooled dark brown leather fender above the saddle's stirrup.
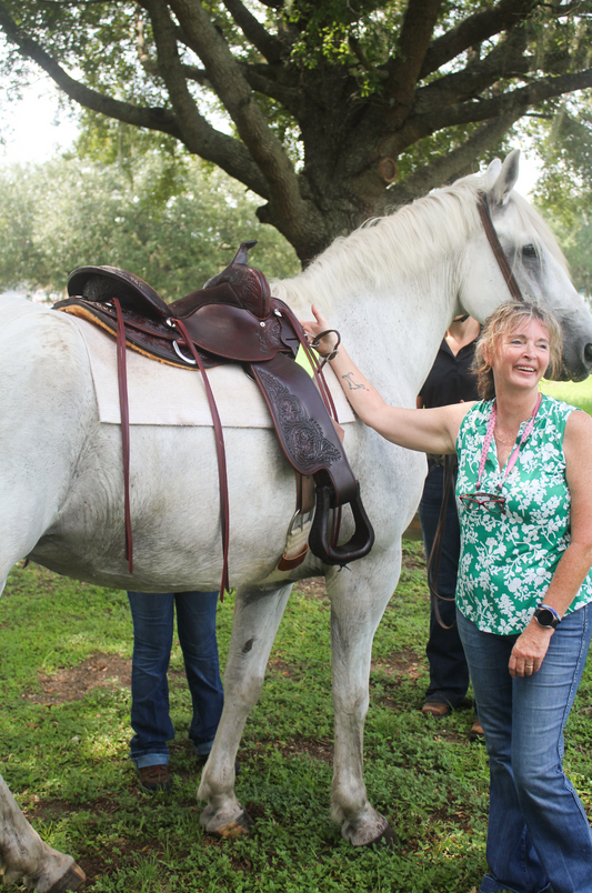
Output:
[[330,468],[342,454],[327,440],[319,422],[311,419],[299,397],[291,393],[275,375],[260,370],[260,379],[273,398],[285,449],[294,462],[305,472],[319,464]]

